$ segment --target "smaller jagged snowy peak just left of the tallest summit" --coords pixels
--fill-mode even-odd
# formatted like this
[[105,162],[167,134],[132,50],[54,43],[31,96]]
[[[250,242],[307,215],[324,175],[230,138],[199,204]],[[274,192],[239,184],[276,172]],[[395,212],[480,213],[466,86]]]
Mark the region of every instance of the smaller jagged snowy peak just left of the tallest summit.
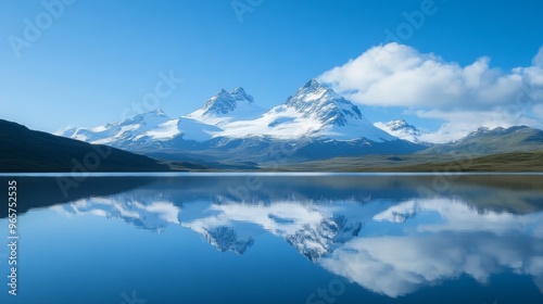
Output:
[[236,88],[229,92],[224,89],[218,91],[202,107],[186,117],[223,127],[232,121],[256,118],[265,111],[254,103],[254,98],[243,88]]

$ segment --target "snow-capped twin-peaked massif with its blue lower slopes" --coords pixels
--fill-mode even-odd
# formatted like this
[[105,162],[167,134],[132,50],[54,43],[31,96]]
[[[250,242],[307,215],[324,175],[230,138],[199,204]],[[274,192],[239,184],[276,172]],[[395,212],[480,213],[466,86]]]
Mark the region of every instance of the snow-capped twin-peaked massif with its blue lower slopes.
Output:
[[214,162],[266,162],[285,147],[289,160],[424,149],[377,128],[356,105],[315,79],[269,111],[236,88],[218,91],[178,118],[156,110],[96,128],[72,128],[62,136],[150,156]]

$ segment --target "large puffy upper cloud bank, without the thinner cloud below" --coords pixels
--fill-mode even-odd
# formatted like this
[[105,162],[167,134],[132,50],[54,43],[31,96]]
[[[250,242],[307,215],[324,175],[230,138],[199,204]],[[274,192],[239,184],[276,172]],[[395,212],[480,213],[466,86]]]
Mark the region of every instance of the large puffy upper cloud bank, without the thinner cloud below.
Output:
[[369,49],[319,79],[362,104],[463,109],[505,105],[522,92],[523,84],[543,84],[543,48],[531,67],[503,73],[489,63],[483,56],[460,66],[392,42]]

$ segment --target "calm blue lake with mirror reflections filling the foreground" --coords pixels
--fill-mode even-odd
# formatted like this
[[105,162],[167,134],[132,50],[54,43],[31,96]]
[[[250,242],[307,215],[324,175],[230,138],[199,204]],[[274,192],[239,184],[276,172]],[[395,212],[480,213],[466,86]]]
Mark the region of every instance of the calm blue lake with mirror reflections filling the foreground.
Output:
[[0,303],[543,303],[543,175],[12,179]]

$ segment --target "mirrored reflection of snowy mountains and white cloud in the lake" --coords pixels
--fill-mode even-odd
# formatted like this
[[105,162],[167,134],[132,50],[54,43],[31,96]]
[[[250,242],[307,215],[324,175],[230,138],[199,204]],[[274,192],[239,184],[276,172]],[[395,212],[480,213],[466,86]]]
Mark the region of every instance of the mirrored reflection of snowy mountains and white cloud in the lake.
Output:
[[[426,177],[166,178],[55,205],[161,232],[180,225],[239,255],[263,233],[283,239],[324,269],[396,297],[469,276],[531,276],[543,293],[541,177],[460,178],[445,191]],[[539,181],[538,181],[539,180]],[[535,183],[534,183],[535,182]],[[233,189],[233,190],[232,190]],[[378,278],[378,279],[376,279]]]

